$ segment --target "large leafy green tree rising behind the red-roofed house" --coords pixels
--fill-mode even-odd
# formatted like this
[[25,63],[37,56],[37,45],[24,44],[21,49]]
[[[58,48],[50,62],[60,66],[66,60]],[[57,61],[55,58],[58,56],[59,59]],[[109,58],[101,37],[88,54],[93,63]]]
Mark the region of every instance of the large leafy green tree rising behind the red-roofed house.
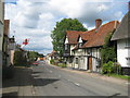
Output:
[[52,30],[52,45],[53,50],[60,52],[63,56],[64,38],[66,30],[81,30],[86,32],[87,28],[77,19],[63,19],[61,22],[56,22],[56,26]]

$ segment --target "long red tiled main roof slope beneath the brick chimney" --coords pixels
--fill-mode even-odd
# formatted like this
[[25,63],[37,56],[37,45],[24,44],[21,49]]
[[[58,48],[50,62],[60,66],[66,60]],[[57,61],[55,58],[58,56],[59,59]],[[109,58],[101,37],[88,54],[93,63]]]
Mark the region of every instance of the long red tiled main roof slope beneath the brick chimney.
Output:
[[86,33],[87,35],[82,36],[82,39],[86,39],[88,41],[81,48],[103,46],[105,37],[109,33],[114,32],[118,24],[119,24],[118,21],[112,21],[102,25],[98,32],[96,29],[89,30],[88,32],[89,34]]

